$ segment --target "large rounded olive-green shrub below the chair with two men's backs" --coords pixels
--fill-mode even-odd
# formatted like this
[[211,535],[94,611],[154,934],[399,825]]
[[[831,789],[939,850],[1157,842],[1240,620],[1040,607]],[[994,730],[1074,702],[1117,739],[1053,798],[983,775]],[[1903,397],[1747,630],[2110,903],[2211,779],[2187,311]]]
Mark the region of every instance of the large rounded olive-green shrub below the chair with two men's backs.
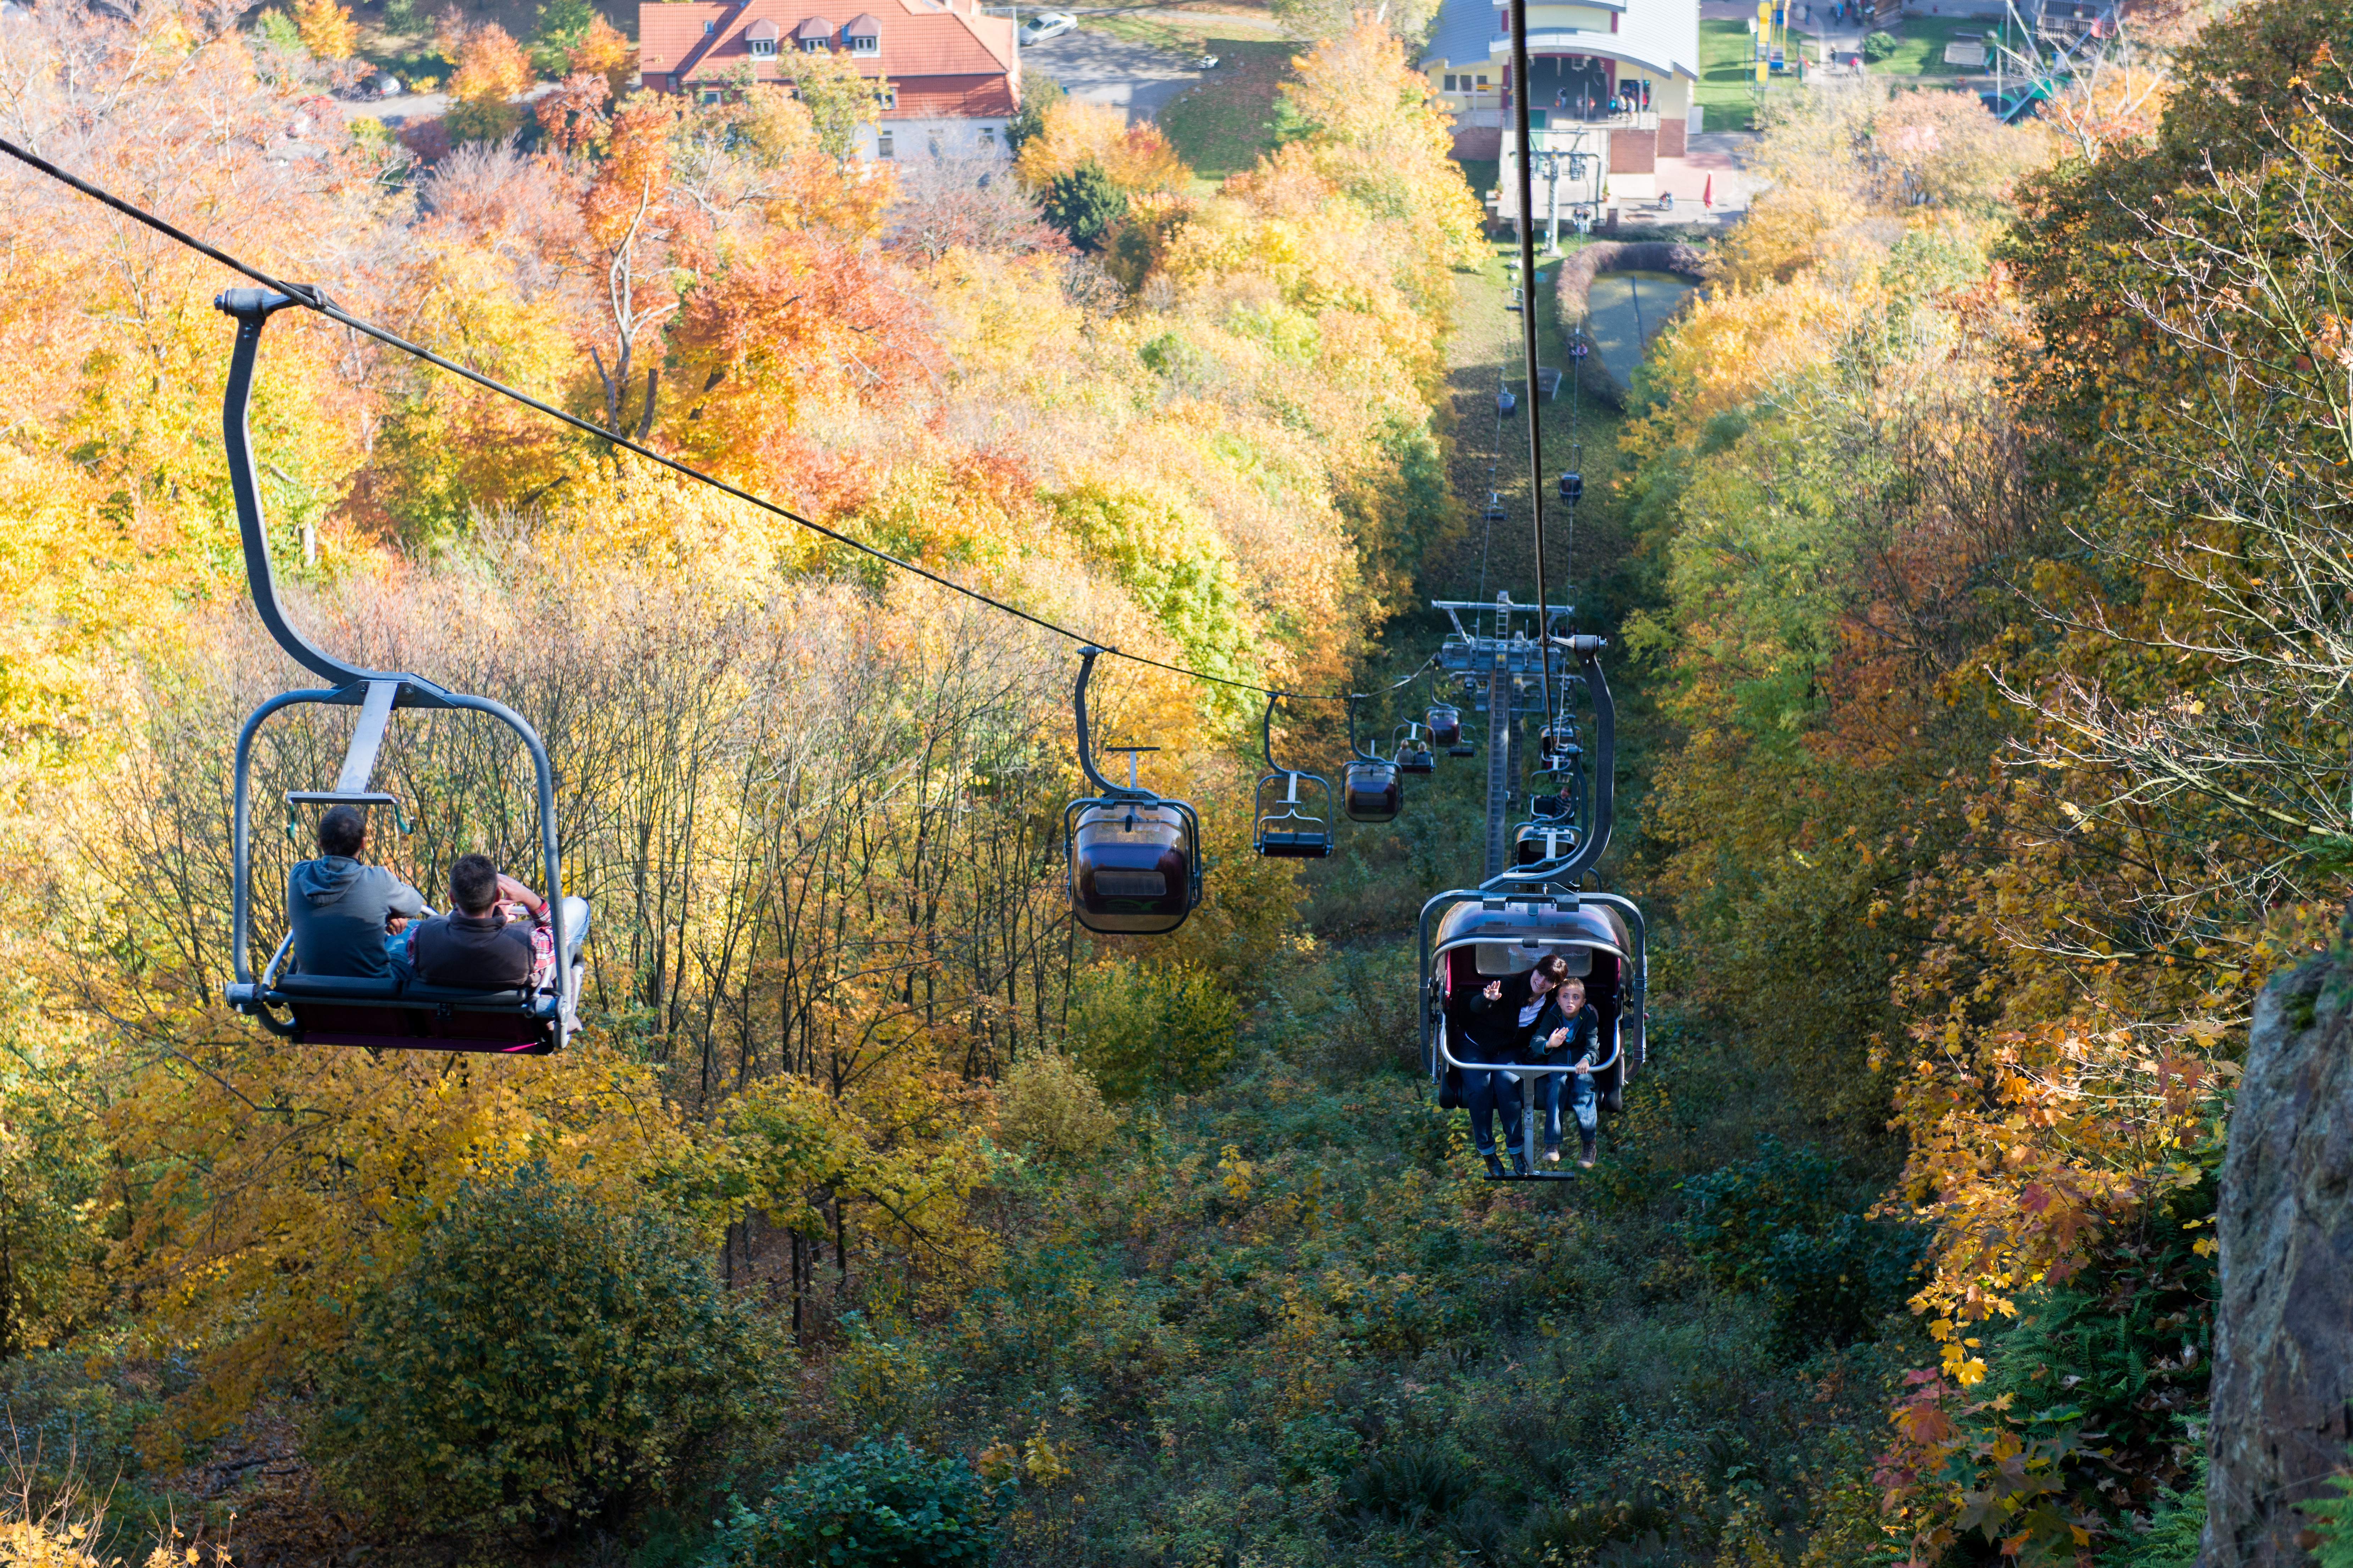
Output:
[[661,1493],[755,1373],[701,1251],[541,1164],[464,1185],[322,1380],[327,1481],[459,1535],[562,1535]]

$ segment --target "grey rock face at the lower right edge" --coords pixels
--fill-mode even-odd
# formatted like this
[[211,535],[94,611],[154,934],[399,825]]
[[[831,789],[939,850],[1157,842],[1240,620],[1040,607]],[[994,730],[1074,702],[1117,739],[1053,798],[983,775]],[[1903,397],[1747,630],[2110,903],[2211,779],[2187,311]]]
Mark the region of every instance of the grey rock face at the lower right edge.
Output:
[[[2353,922],[2348,922],[2353,926]],[[2353,933],[2353,931],[2348,931]],[[2294,1505],[2353,1434],[2353,952],[2254,1009],[2221,1168],[2202,1568],[2308,1563]]]

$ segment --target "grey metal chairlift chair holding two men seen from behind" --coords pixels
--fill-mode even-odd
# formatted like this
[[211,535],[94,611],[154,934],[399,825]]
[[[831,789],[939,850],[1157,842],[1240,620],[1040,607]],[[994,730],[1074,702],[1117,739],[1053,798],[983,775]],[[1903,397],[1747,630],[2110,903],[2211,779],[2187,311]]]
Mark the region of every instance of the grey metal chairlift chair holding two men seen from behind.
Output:
[[[238,731],[233,804],[231,804],[231,971],[226,1001],[280,1039],[313,1046],[365,1046],[372,1051],[494,1051],[504,1056],[546,1056],[560,1051],[574,1027],[579,976],[562,959],[565,879],[555,844],[555,771],[548,748],[518,712],[485,696],[449,691],[424,675],[402,670],[362,670],[334,658],[287,621],[278,604],[278,581],[271,571],[268,531],[261,520],[261,489],[254,482],[254,447],[247,430],[247,407],[254,393],[254,360],[261,353],[261,327],[287,306],[299,303],[271,289],[228,289],[214,299],[221,315],[235,317],[238,343],[228,360],[228,388],[221,395],[221,442],[228,456],[228,489],[238,505],[238,536],[245,548],[245,581],[261,614],[261,625],[294,663],[313,670],[332,686],[280,691],[245,719]],[[254,931],[254,738],[271,715],[301,708],[358,708],[360,717],[344,752],[344,769],[332,790],[287,790],[287,806],[393,806],[398,799],[372,788],[376,752],[391,729],[393,710],[482,712],[506,724],[532,757],[539,788],[539,851],[546,875],[546,898],[555,938],[555,978],[527,990],[452,990],[421,985],[407,976],[306,976],[289,969],[292,936],[278,943],[256,976],[252,969]]]

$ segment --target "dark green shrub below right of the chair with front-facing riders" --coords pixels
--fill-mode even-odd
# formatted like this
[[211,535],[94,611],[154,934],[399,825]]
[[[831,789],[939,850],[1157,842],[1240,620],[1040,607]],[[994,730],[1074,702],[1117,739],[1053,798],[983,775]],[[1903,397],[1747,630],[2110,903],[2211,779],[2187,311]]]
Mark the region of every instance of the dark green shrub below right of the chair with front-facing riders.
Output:
[[1831,1157],[1767,1138],[1682,1185],[1682,1241],[1718,1284],[1772,1300],[1784,1347],[1866,1340],[1911,1291],[1920,1234],[1864,1218],[1849,1187]]

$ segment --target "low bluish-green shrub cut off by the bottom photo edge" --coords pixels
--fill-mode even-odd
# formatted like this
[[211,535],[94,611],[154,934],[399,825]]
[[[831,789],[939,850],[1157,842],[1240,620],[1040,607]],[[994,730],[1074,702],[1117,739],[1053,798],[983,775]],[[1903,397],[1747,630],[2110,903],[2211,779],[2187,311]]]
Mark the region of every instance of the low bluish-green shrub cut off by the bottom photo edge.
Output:
[[809,1460],[758,1509],[741,1502],[706,1568],[948,1568],[995,1556],[998,1500],[960,1458],[906,1436]]

